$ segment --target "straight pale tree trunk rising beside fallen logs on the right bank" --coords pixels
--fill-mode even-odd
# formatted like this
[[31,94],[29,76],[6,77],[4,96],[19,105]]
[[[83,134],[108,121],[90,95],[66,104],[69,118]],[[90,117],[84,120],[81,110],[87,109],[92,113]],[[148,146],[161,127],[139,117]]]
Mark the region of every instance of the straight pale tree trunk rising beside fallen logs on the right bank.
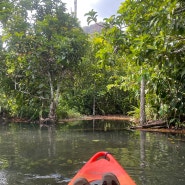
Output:
[[140,125],[146,123],[146,113],[145,113],[145,77],[142,76],[141,88],[140,88]]

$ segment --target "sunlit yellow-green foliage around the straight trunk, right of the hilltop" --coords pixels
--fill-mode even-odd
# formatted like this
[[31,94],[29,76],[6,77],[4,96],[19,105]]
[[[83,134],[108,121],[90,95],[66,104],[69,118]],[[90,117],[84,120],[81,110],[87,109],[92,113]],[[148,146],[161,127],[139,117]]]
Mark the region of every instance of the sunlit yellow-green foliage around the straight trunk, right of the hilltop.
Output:
[[[117,16],[105,19],[95,45],[98,64],[106,72],[114,67],[109,90],[135,92],[139,101],[140,79],[145,76],[147,119],[180,120],[185,114],[183,7],[184,1],[178,0],[126,0]],[[87,15],[92,21],[96,12]],[[139,113],[137,108],[133,112]]]

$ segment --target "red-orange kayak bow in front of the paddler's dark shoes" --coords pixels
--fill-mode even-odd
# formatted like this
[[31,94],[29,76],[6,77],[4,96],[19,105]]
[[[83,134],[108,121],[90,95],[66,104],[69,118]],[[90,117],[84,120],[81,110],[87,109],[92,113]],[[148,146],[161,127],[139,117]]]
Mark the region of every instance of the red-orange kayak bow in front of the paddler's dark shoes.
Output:
[[76,179],[86,178],[89,183],[101,181],[105,173],[116,175],[120,185],[136,185],[128,173],[108,152],[98,152],[78,171],[68,185],[73,185]]

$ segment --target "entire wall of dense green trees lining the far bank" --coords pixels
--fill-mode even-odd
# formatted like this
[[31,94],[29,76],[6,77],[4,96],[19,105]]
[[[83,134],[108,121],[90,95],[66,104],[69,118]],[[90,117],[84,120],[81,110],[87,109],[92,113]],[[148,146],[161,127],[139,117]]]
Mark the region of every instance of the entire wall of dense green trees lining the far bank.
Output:
[[[93,10],[87,15],[97,21]],[[60,0],[2,0],[0,22],[1,112],[133,114],[183,125],[183,0],[126,0],[89,36]]]

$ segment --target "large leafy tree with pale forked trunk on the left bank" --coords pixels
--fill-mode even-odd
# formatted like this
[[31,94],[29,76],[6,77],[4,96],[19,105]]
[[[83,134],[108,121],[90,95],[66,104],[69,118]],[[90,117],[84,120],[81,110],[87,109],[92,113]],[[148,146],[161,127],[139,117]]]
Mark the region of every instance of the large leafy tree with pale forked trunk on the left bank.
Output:
[[6,44],[4,74],[11,81],[5,91],[17,94],[18,115],[48,112],[55,117],[64,81],[84,55],[87,36],[60,1],[20,0],[12,5],[6,24],[0,20]]

